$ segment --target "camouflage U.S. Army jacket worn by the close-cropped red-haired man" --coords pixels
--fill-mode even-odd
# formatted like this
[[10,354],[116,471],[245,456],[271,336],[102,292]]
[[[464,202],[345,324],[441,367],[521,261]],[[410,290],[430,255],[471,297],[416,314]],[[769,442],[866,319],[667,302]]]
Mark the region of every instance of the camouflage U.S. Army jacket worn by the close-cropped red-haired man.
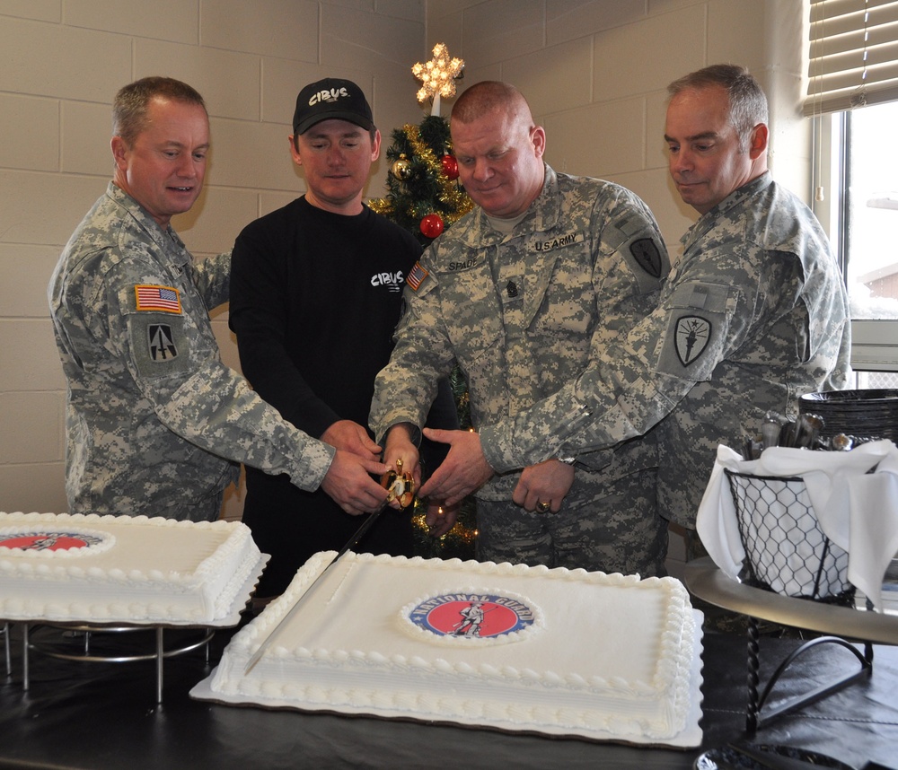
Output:
[[[455,360],[475,427],[532,407],[656,306],[669,267],[655,218],[636,195],[546,166],[540,196],[512,232],[497,232],[477,207],[409,274],[396,347],[375,384],[374,433],[383,439],[392,424],[423,424],[436,381]],[[568,416],[547,426],[541,459],[557,456],[576,427]],[[602,470],[605,479],[657,463],[651,440],[578,455],[581,473]],[[522,456],[501,468],[511,472],[477,496],[510,500],[528,464]]]

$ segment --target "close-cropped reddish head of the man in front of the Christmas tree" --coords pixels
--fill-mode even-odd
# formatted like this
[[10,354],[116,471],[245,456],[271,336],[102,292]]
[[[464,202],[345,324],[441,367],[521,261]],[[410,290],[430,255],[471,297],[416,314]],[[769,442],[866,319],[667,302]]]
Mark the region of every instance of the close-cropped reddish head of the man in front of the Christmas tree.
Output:
[[539,197],[546,133],[515,86],[475,83],[449,121],[459,175],[471,200],[490,216],[514,219]]

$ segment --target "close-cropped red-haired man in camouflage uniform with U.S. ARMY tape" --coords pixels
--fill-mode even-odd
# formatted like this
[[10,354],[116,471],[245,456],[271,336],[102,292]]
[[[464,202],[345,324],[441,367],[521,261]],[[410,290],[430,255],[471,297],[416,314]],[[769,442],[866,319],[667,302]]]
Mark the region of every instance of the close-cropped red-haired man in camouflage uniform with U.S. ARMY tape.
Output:
[[[402,458],[407,468],[436,381],[454,361],[468,378],[473,424],[500,424],[564,387],[638,323],[669,268],[638,197],[543,162],[545,133],[514,87],[469,88],[454,105],[451,132],[462,184],[479,207],[409,275],[408,307],[372,403],[375,434],[389,431],[385,461]],[[487,468],[475,492],[477,556],[664,573],[654,438],[576,458],[554,451],[580,424],[554,423],[533,463],[495,475]]]

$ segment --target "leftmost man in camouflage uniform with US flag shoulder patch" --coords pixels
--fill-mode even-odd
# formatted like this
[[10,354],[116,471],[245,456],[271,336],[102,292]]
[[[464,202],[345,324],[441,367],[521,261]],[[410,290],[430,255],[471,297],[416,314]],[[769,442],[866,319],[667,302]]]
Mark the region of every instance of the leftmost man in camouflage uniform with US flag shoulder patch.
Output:
[[221,362],[207,309],[227,301],[230,254],[194,263],[170,223],[202,187],[202,97],[145,78],[119,91],[113,115],[113,179],[48,287],[70,512],[215,520],[240,462],[373,510],[385,493],[369,474],[386,466],[296,430]]

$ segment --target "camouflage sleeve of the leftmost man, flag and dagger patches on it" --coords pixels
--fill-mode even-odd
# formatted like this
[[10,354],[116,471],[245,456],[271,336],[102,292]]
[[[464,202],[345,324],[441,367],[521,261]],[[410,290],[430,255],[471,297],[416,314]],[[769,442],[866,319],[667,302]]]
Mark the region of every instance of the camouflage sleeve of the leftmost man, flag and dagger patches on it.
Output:
[[333,449],[286,423],[221,362],[205,305],[189,287],[158,285],[165,278],[151,262],[125,259],[101,283],[104,295],[84,303],[86,324],[123,365],[123,387],[136,387],[172,433],[198,447],[316,489]]

